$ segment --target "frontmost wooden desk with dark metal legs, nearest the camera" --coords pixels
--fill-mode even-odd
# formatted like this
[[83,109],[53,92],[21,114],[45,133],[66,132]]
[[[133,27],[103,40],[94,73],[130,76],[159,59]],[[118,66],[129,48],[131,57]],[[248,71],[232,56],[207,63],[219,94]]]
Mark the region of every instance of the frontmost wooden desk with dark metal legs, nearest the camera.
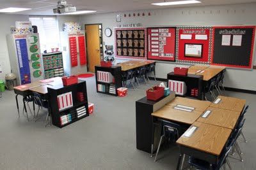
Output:
[[177,140],[177,144],[180,145],[180,157],[177,169],[182,167],[184,155],[191,155],[195,158],[205,160],[210,164],[216,164],[232,131],[225,127],[204,124],[202,122],[195,122],[191,125],[191,127],[193,126],[197,127],[197,129],[190,137],[186,137],[183,134]]

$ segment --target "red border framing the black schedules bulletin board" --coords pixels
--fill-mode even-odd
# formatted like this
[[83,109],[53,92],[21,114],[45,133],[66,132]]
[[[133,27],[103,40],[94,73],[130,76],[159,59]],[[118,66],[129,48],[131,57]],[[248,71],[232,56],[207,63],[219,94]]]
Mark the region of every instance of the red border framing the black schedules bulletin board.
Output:
[[[253,29],[253,34],[252,34],[252,46],[251,46],[251,53],[250,53],[250,66],[239,66],[239,65],[230,65],[230,64],[218,64],[218,63],[213,63],[213,55],[214,55],[214,34],[215,34],[215,29],[243,29],[243,28],[252,28]],[[244,68],[244,69],[252,69],[253,67],[253,48],[254,48],[254,43],[255,43],[255,30],[256,27],[255,26],[250,26],[250,25],[246,25],[246,26],[216,26],[213,27],[213,31],[212,31],[212,53],[211,53],[211,65],[215,65],[215,66],[227,66],[227,67],[236,67],[236,68]]]

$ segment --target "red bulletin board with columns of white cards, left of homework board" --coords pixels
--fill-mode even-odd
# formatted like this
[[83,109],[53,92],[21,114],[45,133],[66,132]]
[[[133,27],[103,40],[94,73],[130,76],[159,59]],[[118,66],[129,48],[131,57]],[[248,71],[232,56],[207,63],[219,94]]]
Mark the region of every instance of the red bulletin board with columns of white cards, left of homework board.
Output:
[[152,27],[147,34],[148,59],[175,61],[176,27]]

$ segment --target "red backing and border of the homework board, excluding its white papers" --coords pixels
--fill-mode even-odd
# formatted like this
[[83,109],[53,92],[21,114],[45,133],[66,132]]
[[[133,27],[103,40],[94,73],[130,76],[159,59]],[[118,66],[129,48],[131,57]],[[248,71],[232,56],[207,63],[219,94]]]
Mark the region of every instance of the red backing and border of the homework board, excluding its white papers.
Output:
[[[195,33],[192,34],[192,39],[188,39],[188,41],[180,40],[180,31],[186,29],[191,31],[197,31],[205,29],[206,34],[208,36],[207,40],[197,40],[195,39]],[[194,39],[193,39],[194,38]],[[184,44],[203,44],[203,52],[202,58],[195,57],[185,57],[185,49]],[[180,47],[182,45],[182,47]],[[208,46],[208,48],[207,48]],[[212,27],[177,27],[176,29],[176,62],[187,63],[187,64],[210,64],[211,61],[211,53],[212,53]]]

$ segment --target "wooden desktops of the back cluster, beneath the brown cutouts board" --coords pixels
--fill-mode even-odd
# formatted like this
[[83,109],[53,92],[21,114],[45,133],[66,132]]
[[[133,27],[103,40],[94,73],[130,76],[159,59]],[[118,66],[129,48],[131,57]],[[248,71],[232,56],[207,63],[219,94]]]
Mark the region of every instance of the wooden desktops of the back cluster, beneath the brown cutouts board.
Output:
[[148,64],[156,63],[156,61],[152,60],[130,60],[127,62],[122,62],[120,64],[116,64],[116,66],[121,66],[122,71],[128,71],[130,69],[135,69],[141,66],[147,66]]

